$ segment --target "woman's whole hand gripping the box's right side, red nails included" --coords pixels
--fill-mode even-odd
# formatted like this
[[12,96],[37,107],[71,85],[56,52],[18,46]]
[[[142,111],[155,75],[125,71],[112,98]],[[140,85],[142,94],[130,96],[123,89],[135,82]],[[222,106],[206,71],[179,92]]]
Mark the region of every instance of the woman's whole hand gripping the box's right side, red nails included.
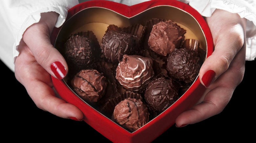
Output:
[[207,89],[198,103],[178,116],[177,127],[197,123],[222,112],[244,77],[246,19],[216,9],[206,22],[215,48],[199,72],[200,82]]

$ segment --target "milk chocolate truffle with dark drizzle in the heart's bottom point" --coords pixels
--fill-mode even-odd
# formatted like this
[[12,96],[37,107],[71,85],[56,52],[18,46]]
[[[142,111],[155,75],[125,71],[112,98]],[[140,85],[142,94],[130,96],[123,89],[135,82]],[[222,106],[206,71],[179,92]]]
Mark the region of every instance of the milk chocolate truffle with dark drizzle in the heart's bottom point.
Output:
[[149,120],[149,111],[140,100],[127,98],[114,109],[114,120],[123,128],[136,131]]

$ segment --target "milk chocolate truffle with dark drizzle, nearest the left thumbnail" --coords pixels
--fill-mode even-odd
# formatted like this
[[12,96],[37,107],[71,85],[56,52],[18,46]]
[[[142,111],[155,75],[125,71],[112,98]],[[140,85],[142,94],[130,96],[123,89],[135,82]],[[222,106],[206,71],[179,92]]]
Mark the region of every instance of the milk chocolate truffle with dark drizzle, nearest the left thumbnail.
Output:
[[107,87],[105,80],[103,73],[96,70],[81,70],[71,80],[71,86],[83,100],[96,103],[105,93]]

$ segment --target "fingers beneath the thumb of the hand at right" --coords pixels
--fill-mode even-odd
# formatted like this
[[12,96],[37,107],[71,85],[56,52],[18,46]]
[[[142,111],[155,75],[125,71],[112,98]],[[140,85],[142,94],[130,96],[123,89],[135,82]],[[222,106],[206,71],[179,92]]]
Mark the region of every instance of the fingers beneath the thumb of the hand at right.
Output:
[[[211,84],[205,95],[176,119],[176,126],[200,122],[223,111],[235,88],[242,82],[245,72],[245,46],[238,52],[226,72]],[[228,79],[228,80],[227,80]]]

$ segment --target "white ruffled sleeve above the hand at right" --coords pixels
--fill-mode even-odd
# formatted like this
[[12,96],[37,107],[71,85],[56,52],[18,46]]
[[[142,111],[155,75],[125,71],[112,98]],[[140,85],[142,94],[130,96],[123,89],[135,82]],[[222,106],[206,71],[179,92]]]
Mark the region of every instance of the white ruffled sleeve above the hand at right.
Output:
[[[184,0],[183,0],[184,1]],[[256,1],[254,0],[185,0],[202,16],[210,17],[215,9],[237,13],[247,19],[246,60],[256,58]]]

